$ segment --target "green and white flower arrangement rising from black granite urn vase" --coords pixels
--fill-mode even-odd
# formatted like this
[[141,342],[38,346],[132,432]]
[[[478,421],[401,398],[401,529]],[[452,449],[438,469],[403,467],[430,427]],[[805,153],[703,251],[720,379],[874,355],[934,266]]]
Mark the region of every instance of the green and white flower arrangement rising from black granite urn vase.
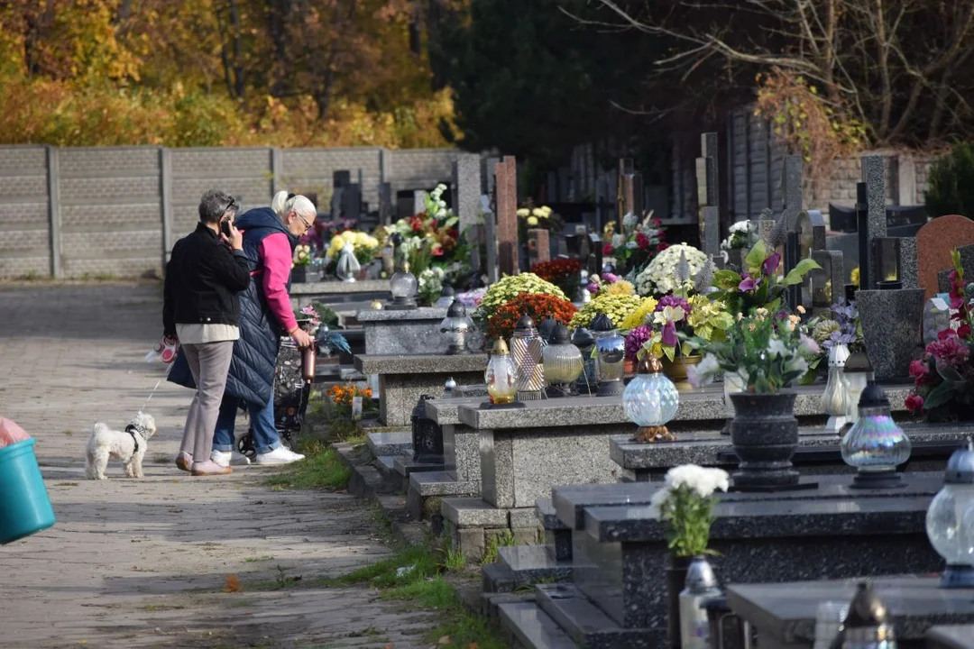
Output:
[[720,374],[736,376],[745,392],[777,394],[808,371],[808,356],[818,345],[802,334],[801,317],[761,306],[752,315],[738,312],[723,340],[698,339],[705,352],[690,368],[688,379],[699,387]]

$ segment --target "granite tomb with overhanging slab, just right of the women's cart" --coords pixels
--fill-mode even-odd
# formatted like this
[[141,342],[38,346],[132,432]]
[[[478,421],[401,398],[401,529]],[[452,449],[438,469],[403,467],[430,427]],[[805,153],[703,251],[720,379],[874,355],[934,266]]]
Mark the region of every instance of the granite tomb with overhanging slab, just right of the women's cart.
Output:
[[[445,309],[440,309],[445,310]],[[399,311],[402,312],[402,311]],[[458,383],[483,381],[485,354],[412,354],[356,356],[356,369],[379,375],[379,418],[388,426],[410,423],[413,409],[423,394],[443,393],[446,379]]]

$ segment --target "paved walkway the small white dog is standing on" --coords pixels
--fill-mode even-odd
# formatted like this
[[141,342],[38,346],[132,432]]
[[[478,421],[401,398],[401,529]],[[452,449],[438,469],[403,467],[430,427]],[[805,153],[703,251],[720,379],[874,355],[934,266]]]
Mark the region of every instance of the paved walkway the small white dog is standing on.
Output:
[[[190,392],[163,382],[145,478],[84,479],[95,421],[122,427],[165,373],[159,284],[0,285],[0,415],[37,440],[57,523],[0,546],[0,646],[423,646],[427,614],[367,588],[272,590],[388,551],[346,494],[272,491],[266,469],[191,478],[171,459]],[[224,593],[228,574],[242,592]]]

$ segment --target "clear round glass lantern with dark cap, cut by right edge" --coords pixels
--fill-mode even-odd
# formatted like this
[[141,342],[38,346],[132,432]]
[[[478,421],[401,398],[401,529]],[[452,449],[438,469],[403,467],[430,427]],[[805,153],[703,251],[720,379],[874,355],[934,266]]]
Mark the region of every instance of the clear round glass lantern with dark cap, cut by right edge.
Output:
[[974,444],[947,461],[944,487],[926,511],[926,536],[947,561],[941,588],[974,588]]

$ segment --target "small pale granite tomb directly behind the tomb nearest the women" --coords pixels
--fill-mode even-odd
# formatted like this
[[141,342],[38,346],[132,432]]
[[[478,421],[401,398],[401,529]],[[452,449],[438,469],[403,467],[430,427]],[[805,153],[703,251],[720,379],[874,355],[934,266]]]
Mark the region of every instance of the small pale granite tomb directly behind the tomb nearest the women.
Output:
[[439,333],[446,317],[444,307],[369,309],[359,311],[356,317],[365,330],[365,353],[372,356],[442,354],[448,346]]

